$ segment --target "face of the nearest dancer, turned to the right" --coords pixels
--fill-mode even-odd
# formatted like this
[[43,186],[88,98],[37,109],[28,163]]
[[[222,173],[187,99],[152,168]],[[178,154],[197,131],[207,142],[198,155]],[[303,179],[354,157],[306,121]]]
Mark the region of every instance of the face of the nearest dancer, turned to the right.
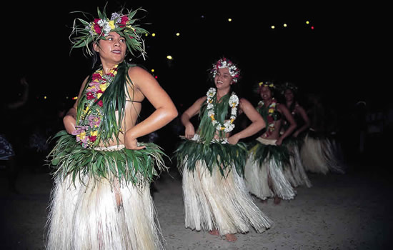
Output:
[[99,40],[98,44],[93,44],[94,50],[99,52],[101,60],[109,63],[119,64],[126,56],[126,39],[114,31],[105,36],[105,40]]

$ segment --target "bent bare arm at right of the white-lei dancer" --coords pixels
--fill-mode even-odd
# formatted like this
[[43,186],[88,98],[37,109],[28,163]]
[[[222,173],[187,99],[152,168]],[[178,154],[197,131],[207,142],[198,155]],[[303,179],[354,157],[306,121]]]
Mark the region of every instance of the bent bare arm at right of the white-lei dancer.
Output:
[[252,121],[252,124],[249,124],[247,128],[239,131],[237,134],[229,137],[229,144],[237,144],[240,139],[247,138],[252,136],[262,130],[266,124],[262,116],[258,113],[258,111],[252,106],[252,104],[246,99],[240,99],[239,108],[244,112],[247,118]]

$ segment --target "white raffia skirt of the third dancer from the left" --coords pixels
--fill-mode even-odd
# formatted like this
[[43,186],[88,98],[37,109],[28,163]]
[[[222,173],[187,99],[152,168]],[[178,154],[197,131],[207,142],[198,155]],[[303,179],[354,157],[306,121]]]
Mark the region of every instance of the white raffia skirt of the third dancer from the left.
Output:
[[[275,145],[276,140],[258,138],[262,145]],[[244,178],[247,189],[259,199],[278,196],[281,199],[294,199],[296,191],[284,174],[284,166],[277,163],[274,157],[267,157],[262,166],[254,160],[254,153],[249,154],[244,167]]]

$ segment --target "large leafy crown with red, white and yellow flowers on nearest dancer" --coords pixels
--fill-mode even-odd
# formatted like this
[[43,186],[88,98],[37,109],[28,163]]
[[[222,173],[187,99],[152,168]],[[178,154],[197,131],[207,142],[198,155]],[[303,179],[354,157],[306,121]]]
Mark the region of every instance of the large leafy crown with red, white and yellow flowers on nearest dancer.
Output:
[[[105,36],[109,34],[109,32],[114,31],[120,36],[123,36],[126,39],[126,46],[129,52],[135,56],[135,52],[139,52],[141,56],[145,56],[146,51],[144,51],[144,40],[141,38],[142,34],[149,34],[145,29],[140,28],[135,21],[138,19],[134,19],[136,11],[128,11],[128,14],[122,14],[121,12],[114,12],[111,14],[111,19],[109,19],[104,11],[101,12],[97,8],[98,19],[94,19],[94,21],[85,21],[83,19],[75,19],[74,27],[71,32],[71,36],[74,36],[71,39],[72,46],[71,49],[84,48],[89,54],[89,56],[93,55],[93,52],[89,48],[89,44],[99,41],[99,39],[106,39]],[[86,14],[84,14],[86,16]],[[76,24],[76,20],[78,20],[81,24],[79,26]]]

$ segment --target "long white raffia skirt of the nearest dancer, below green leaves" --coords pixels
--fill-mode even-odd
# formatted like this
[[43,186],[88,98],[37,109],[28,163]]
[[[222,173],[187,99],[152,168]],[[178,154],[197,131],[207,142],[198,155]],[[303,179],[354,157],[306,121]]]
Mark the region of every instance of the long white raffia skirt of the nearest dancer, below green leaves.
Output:
[[81,178],[54,181],[47,249],[164,249],[149,183]]

